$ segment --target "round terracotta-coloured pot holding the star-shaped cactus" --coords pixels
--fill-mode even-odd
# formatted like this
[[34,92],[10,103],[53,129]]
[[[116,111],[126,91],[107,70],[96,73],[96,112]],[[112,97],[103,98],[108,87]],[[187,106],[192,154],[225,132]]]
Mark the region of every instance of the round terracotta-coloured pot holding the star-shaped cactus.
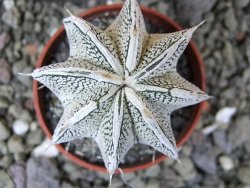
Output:
[[[93,16],[98,16],[99,14],[102,14],[104,12],[110,12],[110,11],[120,11],[122,5],[116,4],[116,5],[104,5],[104,6],[98,6],[95,8],[92,8],[79,16],[86,19]],[[149,9],[147,7],[141,7],[144,17],[149,18],[153,22],[157,22],[161,24],[161,27],[168,30],[169,32],[181,30],[181,27],[171,20],[169,17],[159,14],[155,12],[152,9]],[[59,30],[50,38],[48,43],[46,44],[43,52],[41,53],[38,62],[37,67],[42,67],[46,64],[48,64],[49,54],[51,50],[57,48],[58,41],[62,40],[62,37],[65,36],[65,30],[64,27],[61,26]],[[191,41],[185,51],[185,55],[188,59],[188,64],[191,67],[192,70],[192,77],[193,77],[193,83],[197,85],[202,90],[206,89],[205,84],[205,73],[204,73],[204,67],[203,62],[200,57],[200,54],[198,50],[196,49],[195,45]],[[49,125],[47,124],[45,120],[45,113],[44,113],[44,95],[41,90],[38,89],[38,82],[33,82],[33,92],[34,92],[34,105],[35,105],[35,111],[37,114],[37,118],[40,122],[40,125],[47,135],[47,137],[51,138],[52,132],[49,130]],[[202,112],[202,106],[203,103],[199,103],[193,107],[192,114],[190,114],[190,121],[187,122],[186,125],[184,125],[179,138],[177,138],[177,146],[180,147],[183,145],[187,139],[192,134],[192,131],[197,124],[199,117]],[[96,164],[89,163],[87,161],[84,161],[83,159],[80,159],[79,157],[75,156],[72,153],[69,153],[65,150],[65,148],[62,145],[57,145],[57,148],[60,150],[60,152],[64,155],[66,155],[69,159],[74,161],[76,164],[89,168],[91,170],[99,171],[99,172],[106,172],[106,168],[104,166],[99,166]],[[166,156],[159,155],[156,156],[155,162],[152,161],[145,162],[144,164],[136,164],[133,166],[124,166],[122,167],[123,172],[133,172],[136,170],[146,169],[149,168],[152,165],[155,165],[163,160],[166,159]]]

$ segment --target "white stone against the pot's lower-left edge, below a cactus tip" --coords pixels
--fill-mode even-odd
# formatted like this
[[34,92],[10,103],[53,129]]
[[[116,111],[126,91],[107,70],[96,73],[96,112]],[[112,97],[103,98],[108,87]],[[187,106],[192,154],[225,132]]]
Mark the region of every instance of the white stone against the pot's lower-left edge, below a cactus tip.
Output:
[[52,145],[52,142],[46,138],[39,146],[37,146],[34,150],[33,150],[33,155],[35,157],[56,157],[58,156],[59,151],[56,148],[55,145]]

